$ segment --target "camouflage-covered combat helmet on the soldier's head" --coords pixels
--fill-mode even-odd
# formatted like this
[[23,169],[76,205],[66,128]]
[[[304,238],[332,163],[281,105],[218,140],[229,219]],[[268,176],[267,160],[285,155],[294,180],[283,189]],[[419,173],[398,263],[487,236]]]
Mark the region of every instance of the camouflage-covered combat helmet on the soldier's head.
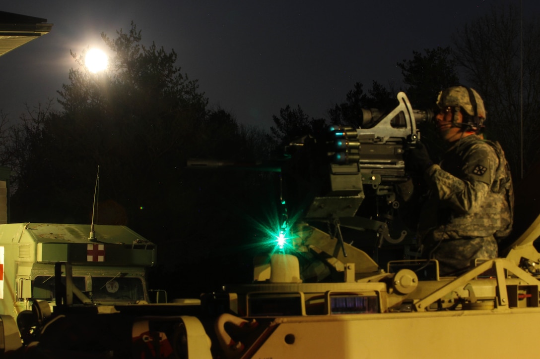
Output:
[[484,101],[475,89],[465,86],[454,86],[443,89],[438,94],[437,106],[456,107],[464,115],[463,123],[471,130],[481,129],[485,121]]

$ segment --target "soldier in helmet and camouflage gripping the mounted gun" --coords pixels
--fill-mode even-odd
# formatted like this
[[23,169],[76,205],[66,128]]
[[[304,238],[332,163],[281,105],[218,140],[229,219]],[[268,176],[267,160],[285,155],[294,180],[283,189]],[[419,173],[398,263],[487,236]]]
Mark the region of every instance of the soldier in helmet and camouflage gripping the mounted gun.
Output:
[[419,220],[423,256],[439,261],[442,276],[467,271],[475,259],[496,258],[498,241],[511,230],[510,170],[500,144],[478,135],[485,117],[474,89],[444,89],[434,119],[448,146],[442,161],[433,164],[421,143],[409,153],[429,188]]

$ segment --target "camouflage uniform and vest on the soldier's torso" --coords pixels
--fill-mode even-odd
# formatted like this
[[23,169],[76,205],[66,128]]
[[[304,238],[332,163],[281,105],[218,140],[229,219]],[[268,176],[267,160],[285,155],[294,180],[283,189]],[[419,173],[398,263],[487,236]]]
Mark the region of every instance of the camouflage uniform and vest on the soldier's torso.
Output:
[[496,258],[512,225],[514,195],[501,146],[469,135],[425,174],[430,194],[420,217],[424,253],[441,275],[460,274],[476,258]]

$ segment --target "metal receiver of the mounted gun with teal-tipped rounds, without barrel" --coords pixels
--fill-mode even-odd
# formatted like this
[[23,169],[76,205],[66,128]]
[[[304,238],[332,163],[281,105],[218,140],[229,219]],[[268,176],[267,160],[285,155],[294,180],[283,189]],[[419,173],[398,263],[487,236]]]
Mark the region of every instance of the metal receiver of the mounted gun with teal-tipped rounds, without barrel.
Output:
[[397,100],[399,105],[386,115],[376,109],[363,110],[361,128],[329,128],[330,189],[316,197],[307,218],[354,216],[358,206],[338,210],[328,204],[342,202],[343,196],[361,204],[367,187],[376,195],[389,196],[394,183],[408,180],[403,154],[420,139],[416,122],[427,120],[430,112],[414,110],[403,92],[397,94]]

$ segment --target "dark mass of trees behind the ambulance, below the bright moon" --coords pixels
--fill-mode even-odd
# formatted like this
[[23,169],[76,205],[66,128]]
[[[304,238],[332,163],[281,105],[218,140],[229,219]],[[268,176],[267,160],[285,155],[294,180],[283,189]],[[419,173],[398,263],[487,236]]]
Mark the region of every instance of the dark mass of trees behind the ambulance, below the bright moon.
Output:
[[226,281],[228,271],[212,263],[241,256],[253,230],[247,213],[257,216],[252,199],[258,207],[272,201],[273,179],[197,172],[186,162],[253,161],[267,155],[265,134],[208,108],[197,81],[175,65],[176,53],[142,45],[135,25],[103,40],[109,69],[90,73],[84,53],[73,53],[79,66],[58,92],[62,111],[38,108],[11,132],[12,222],[90,224],[99,166],[96,224],[127,225],[157,243],[161,269],[177,277],[206,261],[190,278],[202,279],[207,268]]

